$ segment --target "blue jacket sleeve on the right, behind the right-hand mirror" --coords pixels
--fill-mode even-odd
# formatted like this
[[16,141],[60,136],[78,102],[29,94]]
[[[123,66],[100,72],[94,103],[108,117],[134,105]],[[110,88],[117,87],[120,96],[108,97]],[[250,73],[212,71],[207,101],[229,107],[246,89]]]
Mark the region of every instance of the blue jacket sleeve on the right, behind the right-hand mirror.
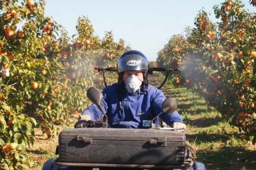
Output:
[[[155,93],[152,107],[156,114],[159,114],[162,111],[162,103],[165,99],[166,97],[164,97],[162,91],[159,90]],[[169,126],[174,122],[182,123],[182,116],[177,111],[174,111],[173,113],[163,113],[160,115],[160,118]]]

